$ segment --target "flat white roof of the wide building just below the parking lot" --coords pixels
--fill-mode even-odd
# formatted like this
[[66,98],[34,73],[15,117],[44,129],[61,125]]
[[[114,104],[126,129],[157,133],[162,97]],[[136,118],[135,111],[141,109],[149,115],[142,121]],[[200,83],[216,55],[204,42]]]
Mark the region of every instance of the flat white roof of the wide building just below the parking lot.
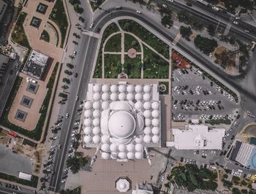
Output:
[[206,125],[188,125],[187,130],[173,128],[177,150],[222,150],[225,128],[208,130]]

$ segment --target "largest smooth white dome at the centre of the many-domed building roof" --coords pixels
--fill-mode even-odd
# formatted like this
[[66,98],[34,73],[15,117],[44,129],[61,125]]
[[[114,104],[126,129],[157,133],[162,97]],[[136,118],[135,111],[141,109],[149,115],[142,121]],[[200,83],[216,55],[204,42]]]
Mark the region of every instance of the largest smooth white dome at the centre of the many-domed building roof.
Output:
[[113,112],[108,120],[110,134],[118,139],[126,139],[135,131],[136,122],[131,113],[119,110]]

